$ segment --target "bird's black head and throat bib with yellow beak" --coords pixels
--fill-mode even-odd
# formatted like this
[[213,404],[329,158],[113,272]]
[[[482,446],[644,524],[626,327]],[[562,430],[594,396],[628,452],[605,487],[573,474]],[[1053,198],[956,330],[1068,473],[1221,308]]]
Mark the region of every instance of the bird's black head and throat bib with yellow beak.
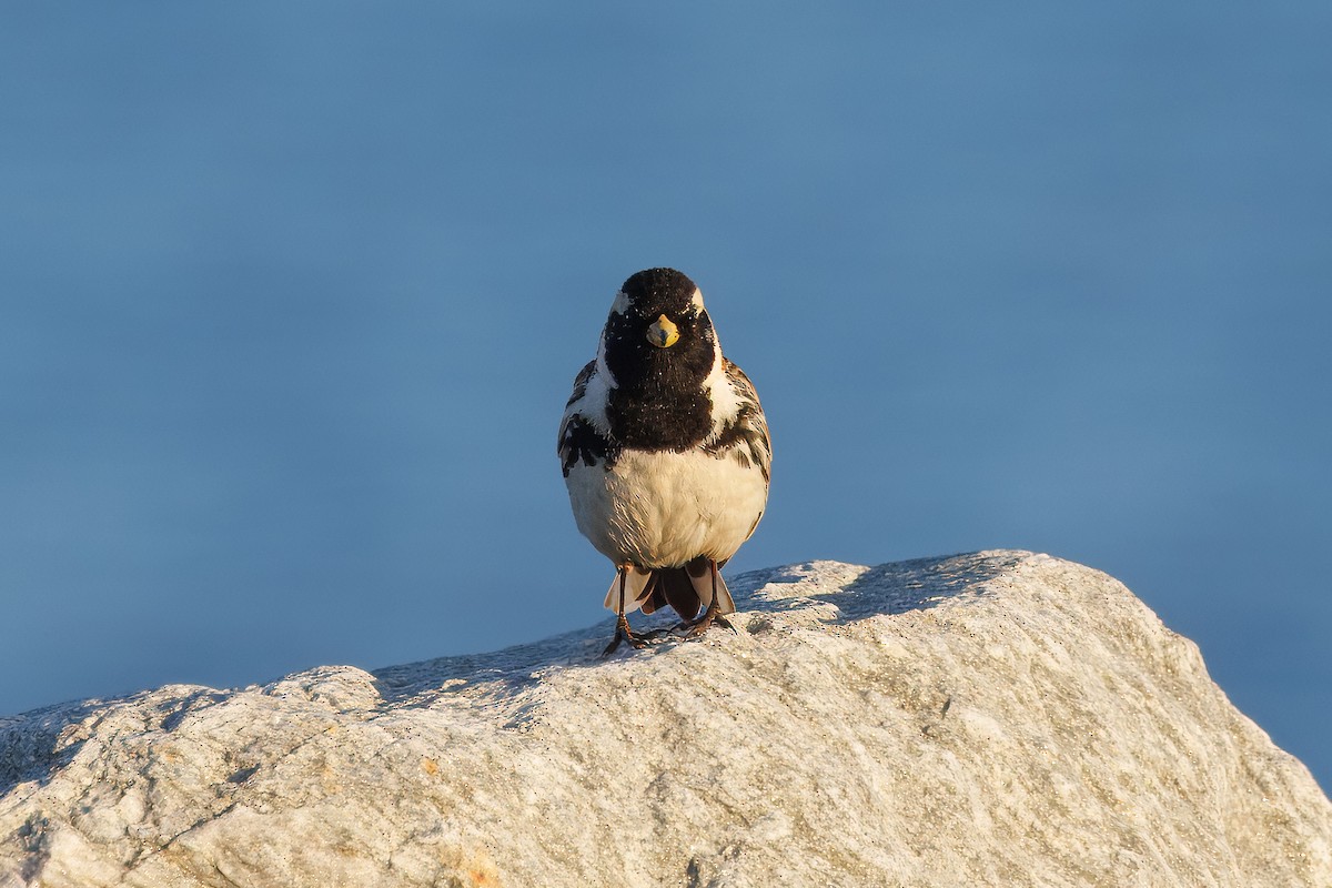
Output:
[[603,335],[615,381],[609,415],[626,443],[685,447],[707,434],[703,381],[717,333],[691,280],[669,268],[634,274],[615,294]]

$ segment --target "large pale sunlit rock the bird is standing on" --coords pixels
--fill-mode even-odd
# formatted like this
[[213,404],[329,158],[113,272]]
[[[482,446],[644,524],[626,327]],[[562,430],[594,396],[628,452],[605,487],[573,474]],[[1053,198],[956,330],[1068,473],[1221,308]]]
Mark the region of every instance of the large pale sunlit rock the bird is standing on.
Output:
[[735,632],[0,719],[0,885],[1332,885],[1332,804],[1120,583],[731,580]]

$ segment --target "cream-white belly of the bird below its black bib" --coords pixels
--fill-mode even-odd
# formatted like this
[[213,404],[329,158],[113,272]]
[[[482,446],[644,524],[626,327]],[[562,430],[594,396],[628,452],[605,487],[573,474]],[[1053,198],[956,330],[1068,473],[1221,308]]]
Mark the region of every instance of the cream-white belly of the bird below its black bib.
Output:
[[606,471],[575,465],[566,478],[583,537],[617,564],[675,567],[725,560],[758,525],[767,482],[754,466],[706,453],[621,454]]

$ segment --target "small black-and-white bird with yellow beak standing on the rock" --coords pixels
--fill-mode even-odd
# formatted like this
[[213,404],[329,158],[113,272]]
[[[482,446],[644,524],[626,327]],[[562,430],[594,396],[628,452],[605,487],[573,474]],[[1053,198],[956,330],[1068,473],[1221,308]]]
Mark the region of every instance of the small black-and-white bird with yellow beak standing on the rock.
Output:
[[558,451],[578,530],[615,564],[606,607],[619,619],[602,655],[643,647],[626,618],[639,608],[669,604],[690,636],[729,626],[735,602],[718,571],[763,517],[773,443],[685,274],[647,269],[619,288]]

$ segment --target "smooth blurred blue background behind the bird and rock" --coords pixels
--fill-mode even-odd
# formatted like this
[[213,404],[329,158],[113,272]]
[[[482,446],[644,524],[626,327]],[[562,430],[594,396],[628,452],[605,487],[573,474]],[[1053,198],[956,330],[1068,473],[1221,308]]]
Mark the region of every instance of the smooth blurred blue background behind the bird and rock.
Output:
[[674,265],[775,437],[735,571],[1092,564],[1332,784],[1329,33],[1325,3],[9,8],[0,711],[603,618],[555,426],[619,282]]

